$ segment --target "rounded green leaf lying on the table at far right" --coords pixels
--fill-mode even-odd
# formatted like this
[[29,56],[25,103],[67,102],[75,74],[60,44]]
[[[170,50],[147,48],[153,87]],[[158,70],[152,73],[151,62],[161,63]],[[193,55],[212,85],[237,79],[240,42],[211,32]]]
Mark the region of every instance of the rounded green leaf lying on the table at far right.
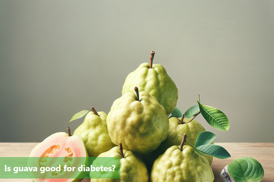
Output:
[[264,176],[262,165],[251,157],[241,157],[228,165],[228,172],[236,182],[259,182]]

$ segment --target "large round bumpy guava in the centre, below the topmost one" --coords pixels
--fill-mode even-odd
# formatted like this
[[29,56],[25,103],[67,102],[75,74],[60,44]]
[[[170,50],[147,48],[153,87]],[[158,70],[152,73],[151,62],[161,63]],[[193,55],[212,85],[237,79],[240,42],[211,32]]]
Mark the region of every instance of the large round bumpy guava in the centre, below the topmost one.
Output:
[[133,153],[145,154],[157,149],[168,136],[166,110],[148,92],[132,92],[116,99],[106,117],[108,134],[116,145]]

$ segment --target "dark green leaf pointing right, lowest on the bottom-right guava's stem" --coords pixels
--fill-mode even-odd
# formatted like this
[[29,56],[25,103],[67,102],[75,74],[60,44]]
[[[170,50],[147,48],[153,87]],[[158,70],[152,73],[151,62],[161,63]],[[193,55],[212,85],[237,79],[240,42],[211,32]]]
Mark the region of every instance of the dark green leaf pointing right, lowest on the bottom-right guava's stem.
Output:
[[211,155],[216,158],[224,159],[224,158],[231,157],[226,149],[214,144],[206,144],[206,145],[198,146],[196,149],[202,152],[203,154]]

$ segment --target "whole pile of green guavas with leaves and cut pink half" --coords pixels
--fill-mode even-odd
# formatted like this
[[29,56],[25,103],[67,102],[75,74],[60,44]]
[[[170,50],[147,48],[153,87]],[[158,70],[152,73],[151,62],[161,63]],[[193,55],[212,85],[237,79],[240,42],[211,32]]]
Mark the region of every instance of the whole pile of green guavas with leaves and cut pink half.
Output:
[[[91,181],[212,182],[213,156],[230,155],[216,153],[220,150],[213,143],[214,135],[194,117],[201,113],[211,126],[223,131],[229,128],[228,119],[199,101],[182,115],[176,108],[176,84],[162,65],[153,64],[154,54],[150,63],[141,64],[125,78],[122,95],[108,114],[93,107],[75,114],[70,121],[85,118],[73,135],[53,134],[30,156],[120,157],[120,179],[91,176]],[[60,181],[80,181],[84,175]]]

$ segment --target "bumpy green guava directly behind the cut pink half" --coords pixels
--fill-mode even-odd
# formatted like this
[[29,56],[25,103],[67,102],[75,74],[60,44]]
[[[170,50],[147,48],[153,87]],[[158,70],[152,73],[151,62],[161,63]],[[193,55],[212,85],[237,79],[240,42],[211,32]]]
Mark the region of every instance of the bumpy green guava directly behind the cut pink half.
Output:
[[97,157],[116,146],[108,135],[106,113],[98,114],[99,116],[92,111],[87,113],[84,122],[74,132],[84,141],[89,157]]

